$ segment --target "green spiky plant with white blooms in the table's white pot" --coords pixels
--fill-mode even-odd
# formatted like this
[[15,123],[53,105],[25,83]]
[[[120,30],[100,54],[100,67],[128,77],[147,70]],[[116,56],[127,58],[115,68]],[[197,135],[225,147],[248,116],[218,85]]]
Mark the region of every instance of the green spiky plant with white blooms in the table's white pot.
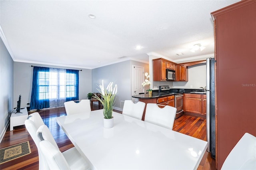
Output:
[[117,85],[115,85],[114,89],[112,88],[113,82],[110,82],[108,86],[105,88],[103,85],[99,85],[100,89],[97,89],[100,92],[100,97],[93,96],[98,99],[100,103],[103,105],[103,115],[105,119],[112,118],[112,111],[115,103],[115,97],[117,93]]

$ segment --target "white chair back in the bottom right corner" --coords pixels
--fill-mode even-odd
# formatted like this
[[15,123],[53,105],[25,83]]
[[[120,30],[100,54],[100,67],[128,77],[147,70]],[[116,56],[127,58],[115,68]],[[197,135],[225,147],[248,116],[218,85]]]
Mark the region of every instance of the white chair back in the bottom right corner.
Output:
[[256,137],[245,133],[222,165],[222,170],[255,170]]

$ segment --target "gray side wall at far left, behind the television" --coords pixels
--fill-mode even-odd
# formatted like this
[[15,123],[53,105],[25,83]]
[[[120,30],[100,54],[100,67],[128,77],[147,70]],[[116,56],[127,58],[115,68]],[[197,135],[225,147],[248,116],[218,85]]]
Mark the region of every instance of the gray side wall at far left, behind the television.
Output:
[[13,60],[0,40],[0,141],[8,126],[8,112],[13,109]]

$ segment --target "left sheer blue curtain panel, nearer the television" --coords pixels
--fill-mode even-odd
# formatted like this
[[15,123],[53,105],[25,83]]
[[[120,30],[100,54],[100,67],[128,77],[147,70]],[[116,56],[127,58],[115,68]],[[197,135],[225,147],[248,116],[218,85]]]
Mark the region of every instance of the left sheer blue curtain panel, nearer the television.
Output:
[[30,109],[49,107],[49,68],[34,67]]

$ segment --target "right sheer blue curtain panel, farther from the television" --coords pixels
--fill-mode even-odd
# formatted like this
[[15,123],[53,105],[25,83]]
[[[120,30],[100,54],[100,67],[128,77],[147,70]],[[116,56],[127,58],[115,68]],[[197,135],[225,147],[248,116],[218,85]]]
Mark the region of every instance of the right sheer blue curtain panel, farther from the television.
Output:
[[[66,101],[79,100],[79,70],[66,70]],[[74,97],[72,97],[74,96]]]

